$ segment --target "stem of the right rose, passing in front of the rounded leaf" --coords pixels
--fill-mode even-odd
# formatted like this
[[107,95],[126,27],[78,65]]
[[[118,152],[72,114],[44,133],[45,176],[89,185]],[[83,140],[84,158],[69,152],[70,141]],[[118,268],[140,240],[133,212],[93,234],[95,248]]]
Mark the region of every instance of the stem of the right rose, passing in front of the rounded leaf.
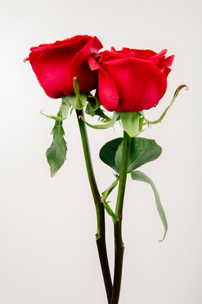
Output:
[[118,189],[116,210],[115,210],[116,220],[114,220],[115,263],[114,263],[114,281],[113,281],[111,304],[119,303],[119,295],[121,289],[122,268],[123,268],[123,258],[124,258],[124,243],[122,240],[122,217],[123,217],[125,184],[126,184],[127,168],[128,168],[128,157],[130,152],[130,140],[131,138],[124,131],[121,172],[120,172],[119,189]]

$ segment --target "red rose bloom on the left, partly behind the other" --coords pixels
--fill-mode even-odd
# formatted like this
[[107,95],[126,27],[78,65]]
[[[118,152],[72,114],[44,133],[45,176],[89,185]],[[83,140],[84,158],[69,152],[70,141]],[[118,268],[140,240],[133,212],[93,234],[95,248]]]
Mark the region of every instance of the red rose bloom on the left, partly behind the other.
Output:
[[77,35],[50,44],[32,47],[24,61],[30,60],[34,73],[45,93],[60,98],[74,93],[73,77],[78,77],[81,91],[97,86],[97,71],[92,71],[88,58],[102,48],[97,37]]

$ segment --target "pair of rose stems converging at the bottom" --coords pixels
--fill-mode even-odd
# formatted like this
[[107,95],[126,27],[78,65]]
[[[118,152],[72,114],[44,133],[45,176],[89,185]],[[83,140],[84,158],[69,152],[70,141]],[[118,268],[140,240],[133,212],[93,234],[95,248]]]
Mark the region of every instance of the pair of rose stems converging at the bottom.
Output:
[[117,195],[117,202],[115,209],[116,217],[115,220],[113,220],[115,262],[114,262],[114,279],[112,285],[107,248],[106,248],[106,239],[105,239],[105,208],[103,203],[101,203],[101,196],[99,194],[94,177],[86,125],[83,120],[79,119],[79,116],[80,115],[84,116],[84,113],[83,110],[76,110],[76,112],[77,112],[78,125],[79,125],[82,145],[83,145],[83,152],[85,156],[88,178],[89,178],[95,209],[96,209],[96,216],[97,216],[96,244],[99,253],[100,264],[101,264],[106,294],[108,298],[108,304],[118,304],[120,289],[121,289],[122,267],[123,267],[123,257],[124,257],[124,243],[122,240],[122,214],[123,214],[125,184],[127,177],[127,167],[128,167],[127,164],[128,164],[128,157],[130,151],[130,137],[127,135],[127,133],[124,132],[121,172],[120,172],[119,188],[118,188],[118,195]]

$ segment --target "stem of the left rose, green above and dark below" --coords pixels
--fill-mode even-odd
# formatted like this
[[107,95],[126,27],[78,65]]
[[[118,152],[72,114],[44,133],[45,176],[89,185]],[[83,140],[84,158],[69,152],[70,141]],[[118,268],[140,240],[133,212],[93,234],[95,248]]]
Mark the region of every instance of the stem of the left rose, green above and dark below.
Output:
[[80,129],[80,135],[83,145],[83,152],[85,156],[86,168],[88,172],[88,178],[91,186],[91,191],[93,194],[96,215],[97,215],[97,233],[96,237],[96,244],[100,258],[100,264],[103,274],[103,279],[105,283],[105,289],[107,293],[108,303],[111,302],[111,295],[112,295],[112,282],[111,282],[111,275],[109,270],[109,262],[107,256],[107,248],[106,248],[106,240],[105,240],[105,208],[103,203],[101,202],[100,194],[97,188],[97,184],[94,177],[92,160],[91,160],[91,153],[88,143],[88,135],[86,131],[85,122],[79,119],[79,116],[82,115],[84,117],[83,110],[76,110],[77,118],[78,118],[78,125]]

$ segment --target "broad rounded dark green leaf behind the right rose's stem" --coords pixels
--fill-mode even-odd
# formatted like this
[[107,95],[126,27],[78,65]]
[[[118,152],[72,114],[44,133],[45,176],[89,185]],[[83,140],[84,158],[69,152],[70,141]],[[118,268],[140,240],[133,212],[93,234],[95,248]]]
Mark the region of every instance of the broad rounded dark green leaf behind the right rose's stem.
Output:
[[[107,142],[100,150],[100,159],[117,173],[121,170],[123,150],[123,138],[115,138]],[[128,170],[134,170],[140,166],[157,159],[162,152],[154,139],[142,137],[131,138]]]

